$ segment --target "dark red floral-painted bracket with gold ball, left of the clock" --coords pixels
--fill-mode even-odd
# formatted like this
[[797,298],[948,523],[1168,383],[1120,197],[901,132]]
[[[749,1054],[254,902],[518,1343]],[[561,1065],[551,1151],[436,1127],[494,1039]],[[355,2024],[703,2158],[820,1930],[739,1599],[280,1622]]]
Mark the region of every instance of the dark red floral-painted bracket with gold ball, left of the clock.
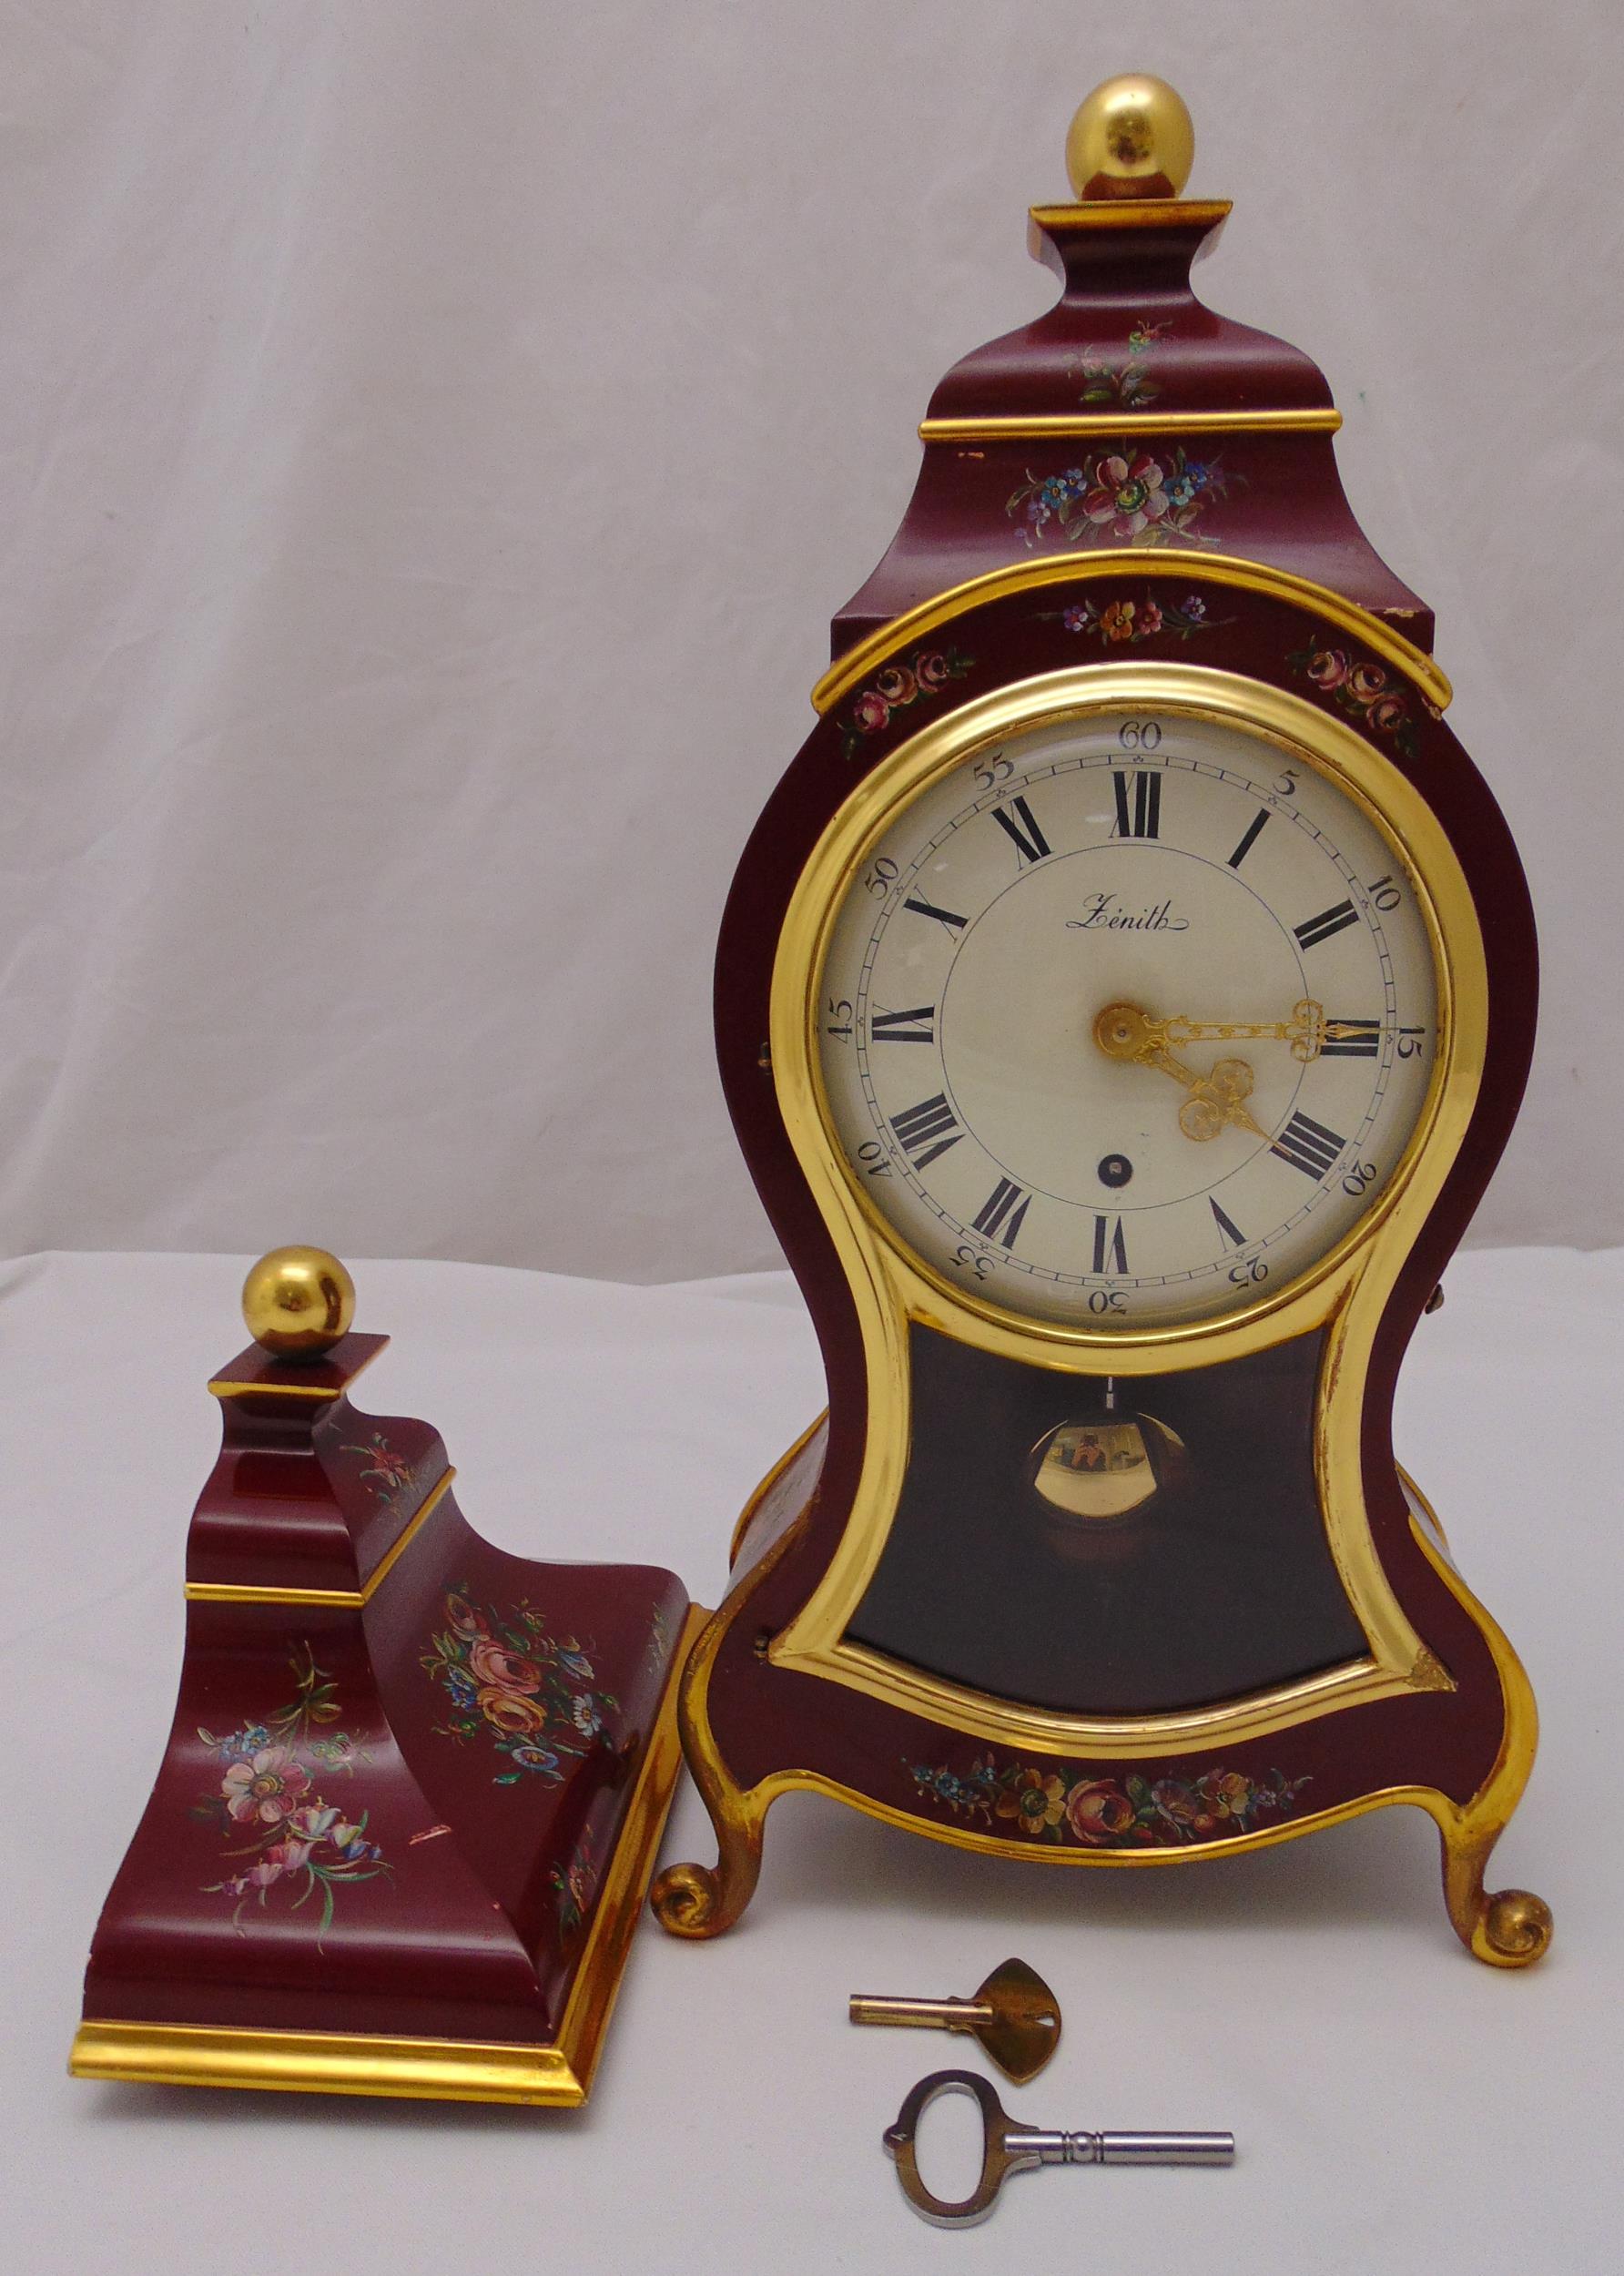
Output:
[[680,1766],[687,1595],[482,1541],[439,1434],[350,1404],[387,1338],[323,1313],[343,1268],[268,1263],[73,2069],[578,2103]]

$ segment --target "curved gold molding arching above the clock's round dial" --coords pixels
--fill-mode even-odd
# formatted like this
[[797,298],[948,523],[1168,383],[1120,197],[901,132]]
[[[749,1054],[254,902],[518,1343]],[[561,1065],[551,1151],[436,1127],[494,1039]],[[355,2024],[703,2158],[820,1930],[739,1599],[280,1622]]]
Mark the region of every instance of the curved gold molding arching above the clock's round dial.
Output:
[[1260,592],[1271,601],[1290,601],[1294,608],[1324,617],[1340,633],[1362,640],[1374,655],[1385,658],[1385,662],[1403,671],[1435,710],[1447,710],[1453,687],[1426,649],[1417,649],[1412,640],[1397,633],[1383,617],[1360,608],[1358,601],[1344,601],[1340,592],[1315,585],[1312,578],[1292,576],[1290,569],[1269,569],[1265,562],[1240,560],[1235,553],[1192,555],[1176,553],[1169,546],[1117,546],[1087,555],[1071,553],[1051,555],[1039,562],[1008,562],[1003,569],[987,569],[962,585],[948,585],[946,592],[937,592],[928,601],[921,601],[919,608],[892,617],[889,624],[883,624],[853,649],[846,649],[812,690],[812,708],[817,712],[832,710],[853,687],[862,687],[869,674],[894,649],[923,640],[926,633],[953,624],[955,617],[980,608],[983,601],[1001,601],[1008,594],[1042,592],[1049,585],[1069,585],[1101,576],[1169,576],[1176,574],[1174,562],[1187,564],[1192,576],[1208,578],[1215,585],[1237,585],[1244,592]]

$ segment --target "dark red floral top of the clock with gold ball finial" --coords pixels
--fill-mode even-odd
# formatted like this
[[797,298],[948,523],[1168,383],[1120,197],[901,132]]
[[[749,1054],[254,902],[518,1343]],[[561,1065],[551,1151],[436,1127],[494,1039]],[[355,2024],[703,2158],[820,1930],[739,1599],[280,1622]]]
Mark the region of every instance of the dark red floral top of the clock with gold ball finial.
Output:
[[1060,298],[937,382],[912,503],[835,617],[835,658],[978,576],[1108,549],[1265,562],[1431,649],[1431,610],[1349,510],[1324,371],[1192,289],[1228,218],[1226,200],[1183,196],[1192,159],[1190,112],[1165,80],[1135,73],[1083,98],[1074,203],[1035,205],[1028,225]]

